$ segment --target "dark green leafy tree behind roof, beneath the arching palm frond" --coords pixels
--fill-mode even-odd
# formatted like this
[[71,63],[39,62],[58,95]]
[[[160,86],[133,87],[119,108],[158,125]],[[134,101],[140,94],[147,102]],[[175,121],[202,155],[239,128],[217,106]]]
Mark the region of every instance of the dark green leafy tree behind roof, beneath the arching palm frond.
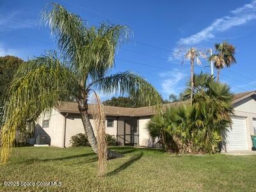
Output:
[[112,97],[111,99],[105,100],[102,104],[106,106],[116,106],[123,108],[140,108],[143,105],[138,104],[136,100],[131,97]]

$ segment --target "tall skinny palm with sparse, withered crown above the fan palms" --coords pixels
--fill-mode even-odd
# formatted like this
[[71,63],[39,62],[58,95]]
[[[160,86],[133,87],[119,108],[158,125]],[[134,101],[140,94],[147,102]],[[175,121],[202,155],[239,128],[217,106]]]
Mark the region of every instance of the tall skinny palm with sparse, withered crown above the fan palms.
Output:
[[[201,65],[200,57],[204,58],[204,54],[195,49],[195,47],[191,47],[189,51],[185,54],[185,59],[190,61],[190,84],[191,84],[191,93],[190,93],[190,102],[192,105],[193,102],[193,89],[194,89],[194,63]],[[183,61],[182,61],[183,63]]]

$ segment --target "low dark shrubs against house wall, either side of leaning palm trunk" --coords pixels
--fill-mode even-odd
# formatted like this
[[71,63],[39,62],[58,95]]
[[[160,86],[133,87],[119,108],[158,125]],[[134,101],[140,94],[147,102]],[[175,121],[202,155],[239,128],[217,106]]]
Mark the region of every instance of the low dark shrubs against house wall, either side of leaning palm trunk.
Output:
[[[108,146],[116,145],[116,138],[114,136],[111,136],[110,134],[106,134],[106,140],[107,140]],[[79,133],[72,136],[70,143],[72,143],[72,147],[90,146],[90,143],[88,142],[86,135],[83,133]]]

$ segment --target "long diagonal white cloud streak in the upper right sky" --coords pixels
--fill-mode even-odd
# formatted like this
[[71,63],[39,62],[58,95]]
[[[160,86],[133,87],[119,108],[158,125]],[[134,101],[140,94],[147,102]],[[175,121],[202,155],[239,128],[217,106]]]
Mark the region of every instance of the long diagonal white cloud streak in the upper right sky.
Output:
[[210,26],[202,31],[199,31],[195,35],[191,35],[186,38],[181,38],[178,42],[179,45],[193,45],[198,44],[204,40],[209,40],[215,37],[216,33],[227,31],[235,26],[241,26],[249,22],[250,20],[256,19],[256,1],[252,1],[250,4],[244,4],[233,10],[231,15],[221,17],[220,19],[214,20]]

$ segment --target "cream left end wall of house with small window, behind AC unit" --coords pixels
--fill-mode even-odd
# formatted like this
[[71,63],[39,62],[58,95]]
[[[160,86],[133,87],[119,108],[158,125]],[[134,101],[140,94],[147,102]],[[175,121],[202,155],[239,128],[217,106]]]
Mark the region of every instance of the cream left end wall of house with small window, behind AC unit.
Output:
[[[42,128],[43,120],[49,119],[49,127]],[[42,113],[36,121],[35,138],[38,134],[47,135],[47,143],[51,143],[52,146],[63,147],[63,125],[64,116],[58,113],[55,109],[51,110],[51,113]]]

